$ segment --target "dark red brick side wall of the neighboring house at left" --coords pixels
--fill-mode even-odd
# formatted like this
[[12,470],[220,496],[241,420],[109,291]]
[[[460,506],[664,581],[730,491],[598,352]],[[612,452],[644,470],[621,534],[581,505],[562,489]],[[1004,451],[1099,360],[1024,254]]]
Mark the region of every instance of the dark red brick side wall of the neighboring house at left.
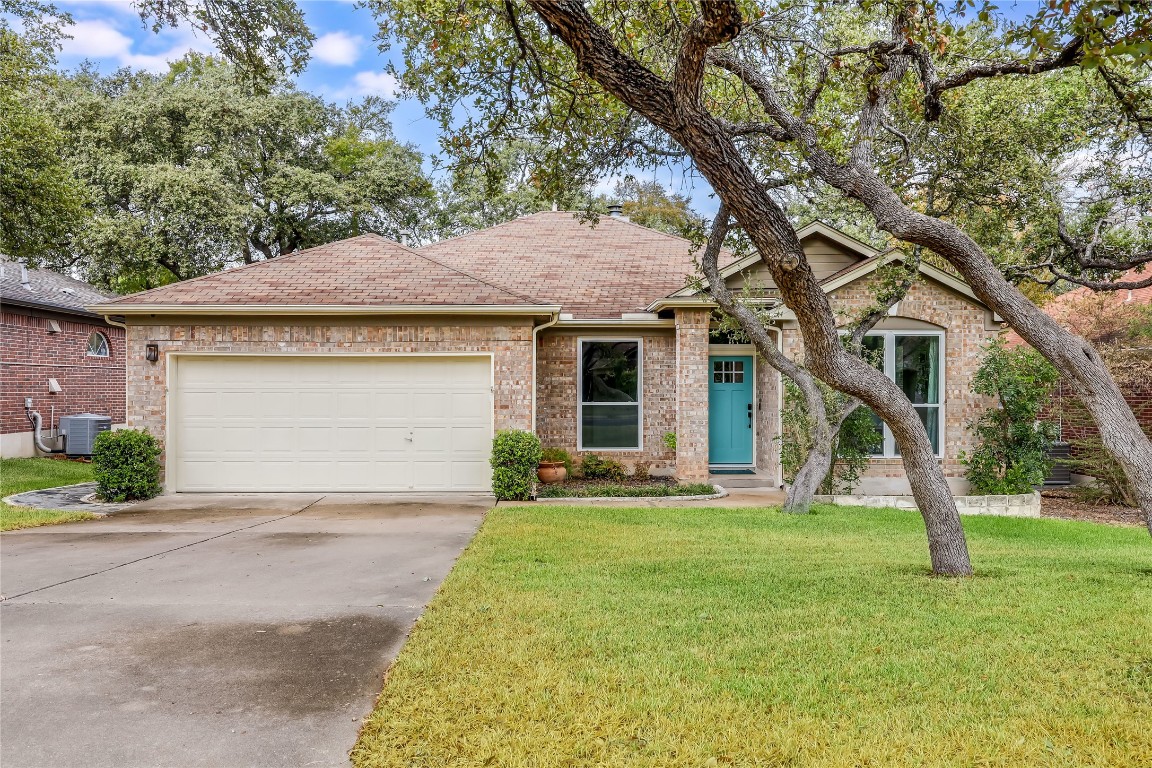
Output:
[[[6,307],[0,313],[0,432],[29,432],[24,398],[31,397],[47,426],[56,416],[100,413],[113,424],[124,420],[124,330],[73,315],[51,315],[60,333],[48,333],[47,314]],[[89,357],[88,339],[99,330],[108,339],[108,357]],[[62,391],[48,393],[48,379]]]

